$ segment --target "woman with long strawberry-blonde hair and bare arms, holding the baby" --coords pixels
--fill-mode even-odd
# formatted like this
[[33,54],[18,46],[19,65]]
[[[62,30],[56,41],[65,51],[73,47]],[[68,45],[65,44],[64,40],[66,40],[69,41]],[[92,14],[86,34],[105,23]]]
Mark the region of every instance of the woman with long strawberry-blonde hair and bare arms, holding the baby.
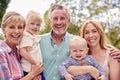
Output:
[[[120,80],[120,63],[110,56],[110,53],[119,54],[120,51],[116,49],[111,51],[106,47],[105,33],[102,29],[102,26],[93,20],[88,20],[81,28],[81,36],[87,41],[89,55],[92,55],[104,68],[106,72],[105,80]],[[68,71],[73,75],[90,73],[95,79],[97,79],[99,76],[98,71],[91,66],[86,66],[84,68],[77,67],[77,69],[71,66],[71,68],[69,67]]]

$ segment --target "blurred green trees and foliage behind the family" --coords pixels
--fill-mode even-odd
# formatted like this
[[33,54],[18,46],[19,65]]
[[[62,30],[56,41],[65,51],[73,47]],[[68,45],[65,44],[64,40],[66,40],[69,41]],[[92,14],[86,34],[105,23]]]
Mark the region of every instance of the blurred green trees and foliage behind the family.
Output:
[[[0,24],[10,2],[11,0],[0,0]],[[94,19],[102,24],[110,43],[120,49],[120,0],[54,0],[54,3],[63,4],[69,8],[71,23],[68,32],[80,35],[83,22],[87,19]],[[40,35],[51,31],[48,10],[43,16],[44,25],[39,32]],[[3,39],[1,30],[0,39]]]

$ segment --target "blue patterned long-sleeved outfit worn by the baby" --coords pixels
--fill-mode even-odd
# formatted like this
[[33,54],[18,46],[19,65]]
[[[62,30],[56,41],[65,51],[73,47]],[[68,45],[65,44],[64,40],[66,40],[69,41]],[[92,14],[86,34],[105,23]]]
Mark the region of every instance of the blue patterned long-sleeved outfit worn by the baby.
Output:
[[[71,65],[80,66],[81,62],[79,60],[73,59],[72,57],[68,57],[68,59],[66,59],[66,61],[59,66],[59,71],[61,76],[64,76],[64,74],[68,73],[67,68]],[[100,75],[105,74],[104,69],[91,55],[87,55],[85,57],[85,65],[96,67],[100,71]],[[73,80],[91,80],[91,79],[92,79],[92,76],[88,73],[73,77]]]

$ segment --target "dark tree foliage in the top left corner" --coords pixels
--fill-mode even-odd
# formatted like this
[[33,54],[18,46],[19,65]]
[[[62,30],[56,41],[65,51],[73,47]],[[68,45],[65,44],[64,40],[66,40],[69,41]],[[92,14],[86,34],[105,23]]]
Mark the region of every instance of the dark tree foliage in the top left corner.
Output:
[[0,25],[2,21],[2,17],[8,7],[10,0],[0,0]]

